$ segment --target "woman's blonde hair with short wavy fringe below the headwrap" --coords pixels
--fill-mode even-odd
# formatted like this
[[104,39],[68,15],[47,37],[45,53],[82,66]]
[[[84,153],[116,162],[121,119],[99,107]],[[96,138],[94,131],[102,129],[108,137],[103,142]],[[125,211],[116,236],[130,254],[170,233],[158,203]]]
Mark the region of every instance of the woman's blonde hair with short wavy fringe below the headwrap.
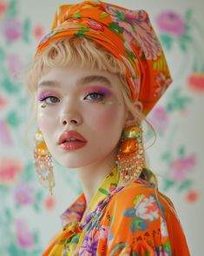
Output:
[[[54,43],[49,44],[43,53],[33,60],[30,69],[26,71],[25,84],[27,91],[30,92],[31,96],[36,97],[36,93],[33,92],[36,92],[37,82],[43,74],[52,68],[75,64],[81,64],[81,67],[86,66],[89,69],[109,71],[110,73],[116,74],[123,85],[120,89],[125,105],[134,117],[133,125],[141,125],[141,122],[145,121],[154,131],[152,125],[146,120],[141,111],[136,109],[131,99],[131,92],[126,80],[125,66],[112,53],[88,38],[69,37],[56,40]],[[36,108],[35,102],[33,101],[34,108]],[[157,186],[157,179],[153,172],[149,171],[147,174],[147,170],[145,170],[141,172],[141,177]]]

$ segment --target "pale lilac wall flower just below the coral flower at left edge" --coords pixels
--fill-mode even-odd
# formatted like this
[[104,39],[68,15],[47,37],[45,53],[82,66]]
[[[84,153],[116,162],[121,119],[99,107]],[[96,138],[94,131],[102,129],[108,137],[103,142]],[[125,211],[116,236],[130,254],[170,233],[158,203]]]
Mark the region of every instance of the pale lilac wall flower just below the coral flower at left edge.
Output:
[[14,199],[17,205],[30,205],[35,200],[33,188],[26,184],[20,183],[14,189]]

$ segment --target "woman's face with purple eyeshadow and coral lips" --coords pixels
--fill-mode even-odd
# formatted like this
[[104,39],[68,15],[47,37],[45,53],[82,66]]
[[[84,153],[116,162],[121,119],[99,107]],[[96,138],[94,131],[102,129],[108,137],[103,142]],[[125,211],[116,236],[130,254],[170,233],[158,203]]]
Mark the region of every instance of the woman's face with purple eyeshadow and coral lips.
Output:
[[[56,161],[80,168],[115,157],[127,118],[121,86],[114,74],[79,67],[50,69],[40,78],[37,123]],[[68,131],[86,142],[70,142]]]

